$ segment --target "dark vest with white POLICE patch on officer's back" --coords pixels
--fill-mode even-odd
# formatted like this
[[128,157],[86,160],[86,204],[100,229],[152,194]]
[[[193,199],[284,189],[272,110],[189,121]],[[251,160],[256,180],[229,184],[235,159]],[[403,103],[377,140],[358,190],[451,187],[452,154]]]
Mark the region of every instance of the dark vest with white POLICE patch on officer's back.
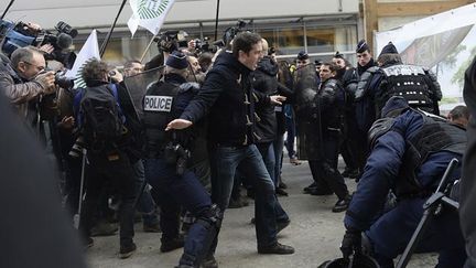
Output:
[[165,127],[181,116],[192,99],[193,94],[184,94],[191,88],[190,83],[178,86],[158,82],[147,90],[142,109],[147,138],[145,150],[149,158],[160,156],[171,140],[177,140],[183,146],[188,141],[190,130],[165,131]]

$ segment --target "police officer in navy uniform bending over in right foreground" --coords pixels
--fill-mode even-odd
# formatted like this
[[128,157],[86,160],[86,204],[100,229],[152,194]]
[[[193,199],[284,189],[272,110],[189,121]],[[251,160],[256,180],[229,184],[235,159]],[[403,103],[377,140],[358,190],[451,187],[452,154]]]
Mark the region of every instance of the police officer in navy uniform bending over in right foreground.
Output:
[[[379,265],[393,267],[392,259],[409,243],[423,215],[423,204],[437,187],[447,164],[453,158],[462,158],[466,136],[443,118],[410,108],[402,97],[390,98],[382,117],[369,132],[372,151],[344,218],[347,231],[340,249],[348,257],[360,246],[360,233],[365,232],[363,242],[368,240]],[[459,169],[450,181],[458,175]],[[382,213],[389,190],[398,202]],[[437,267],[462,267],[466,254],[457,212],[443,208],[418,250],[440,253]]]

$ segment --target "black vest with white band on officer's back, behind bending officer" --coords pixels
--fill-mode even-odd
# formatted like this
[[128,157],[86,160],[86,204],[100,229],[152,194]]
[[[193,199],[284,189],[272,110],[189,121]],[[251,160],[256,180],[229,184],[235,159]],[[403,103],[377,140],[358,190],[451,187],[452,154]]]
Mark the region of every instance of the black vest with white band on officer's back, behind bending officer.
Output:
[[402,96],[412,108],[433,112],[434,103],[426,73],[421,66],[392,65],[381,68],[385,79],[376,98],[376,110],[380,111],[392,96]]

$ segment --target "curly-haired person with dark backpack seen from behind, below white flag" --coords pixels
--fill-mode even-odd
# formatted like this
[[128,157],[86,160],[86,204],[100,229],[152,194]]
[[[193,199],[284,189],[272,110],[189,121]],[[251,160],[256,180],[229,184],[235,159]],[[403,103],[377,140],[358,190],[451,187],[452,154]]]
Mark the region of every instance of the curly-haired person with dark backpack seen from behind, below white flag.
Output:
[[118,90],[109,83],[108,66],[93,60],[83,71],[86,88],[76,95],[75,111],[79,126],[79,138],[75,146],[87,149],[86,197],[80,212],[79,229],[85,246],[93,246],[90,228],[99,195],[109,181],[120,195],[120,258],[128,258],[136,251],[133,243],[133,203],[136,189],[133,171],[128,156],[129,131],[125,127],[123,115],[118,103]]

